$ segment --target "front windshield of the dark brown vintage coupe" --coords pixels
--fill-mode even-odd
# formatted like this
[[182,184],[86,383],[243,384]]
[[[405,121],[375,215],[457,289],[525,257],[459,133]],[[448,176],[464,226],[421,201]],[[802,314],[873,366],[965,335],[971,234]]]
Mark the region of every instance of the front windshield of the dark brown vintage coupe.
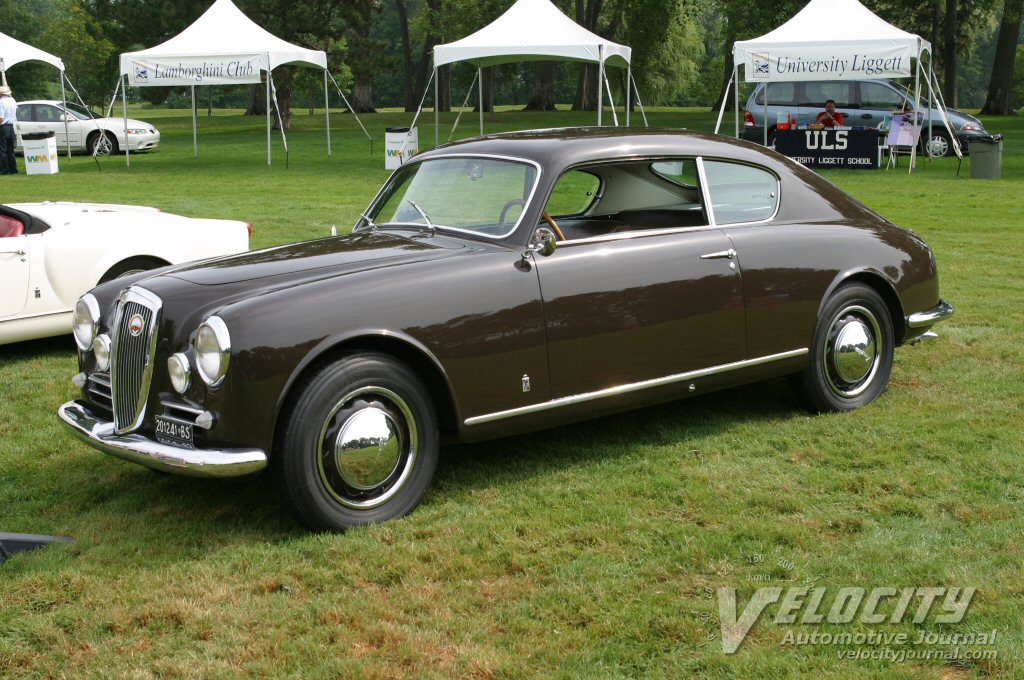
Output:
[[416,224],[506,237],[518,225],[538,176],[538,168],[524,161],[467,157],[414,163],[395,173],[368,217],[378,226]]

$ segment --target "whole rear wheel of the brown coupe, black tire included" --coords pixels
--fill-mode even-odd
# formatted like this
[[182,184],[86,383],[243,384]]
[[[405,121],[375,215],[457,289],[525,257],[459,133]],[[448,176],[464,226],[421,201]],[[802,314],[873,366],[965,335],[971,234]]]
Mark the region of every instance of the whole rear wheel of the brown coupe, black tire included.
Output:
[[817,413],[852,411],[879,398],[893,369],[892,317],[874,289],[848,284],[818,317],[811,360],[793,376],[800,401]]

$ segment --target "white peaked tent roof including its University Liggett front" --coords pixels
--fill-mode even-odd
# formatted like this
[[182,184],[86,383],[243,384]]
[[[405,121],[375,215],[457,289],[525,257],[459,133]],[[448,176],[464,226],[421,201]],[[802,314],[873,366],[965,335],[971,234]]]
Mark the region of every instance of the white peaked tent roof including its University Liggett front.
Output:
[[898,78],[910,74],[911,58],[930,50],[927,40],[858,0],[811,0],[774,31],[733,45],[746,80],[755,81]]

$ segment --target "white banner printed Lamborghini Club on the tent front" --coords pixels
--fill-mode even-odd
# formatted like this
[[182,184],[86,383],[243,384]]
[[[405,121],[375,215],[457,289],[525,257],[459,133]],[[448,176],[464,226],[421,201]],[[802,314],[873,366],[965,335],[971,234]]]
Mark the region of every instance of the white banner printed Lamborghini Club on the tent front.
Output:
[[128,83],[136,87],[258,83],[265,60],[261,54],[131,59]]

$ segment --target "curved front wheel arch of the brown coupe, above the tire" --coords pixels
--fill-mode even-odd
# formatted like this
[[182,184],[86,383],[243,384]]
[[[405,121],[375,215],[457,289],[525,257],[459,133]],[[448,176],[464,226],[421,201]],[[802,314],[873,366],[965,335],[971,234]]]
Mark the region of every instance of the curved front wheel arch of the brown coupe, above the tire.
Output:
[[440,363],[416,341],[393,334],[361,334],[325,344],[312,353],[288,379],[278,399],[274,414],[274,439],[282,431],[281,419],[288,413],[288,406],[298,398],[305,379],[325,366],[356,352],[377,352],[398,359],[423,381],[437,410],[437,422],[443,433],[458,432],[458,410],[452,394],[451,383]]

